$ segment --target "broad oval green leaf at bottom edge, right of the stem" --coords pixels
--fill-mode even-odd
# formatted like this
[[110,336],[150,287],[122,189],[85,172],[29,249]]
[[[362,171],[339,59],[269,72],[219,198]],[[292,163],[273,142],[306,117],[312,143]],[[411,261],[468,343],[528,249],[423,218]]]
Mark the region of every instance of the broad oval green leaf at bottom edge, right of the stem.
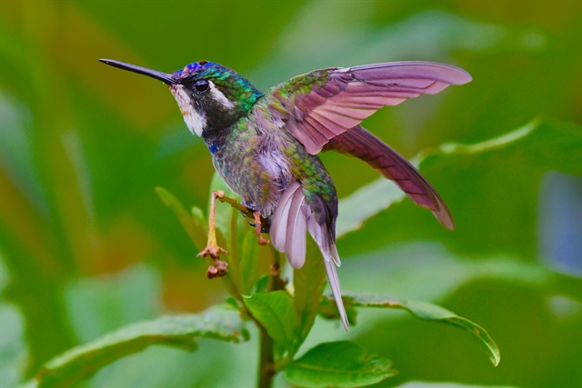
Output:
[[347,341],[320,343],[286,367],[287,379],[305,387],[359,387],[396,373],[386,357]]

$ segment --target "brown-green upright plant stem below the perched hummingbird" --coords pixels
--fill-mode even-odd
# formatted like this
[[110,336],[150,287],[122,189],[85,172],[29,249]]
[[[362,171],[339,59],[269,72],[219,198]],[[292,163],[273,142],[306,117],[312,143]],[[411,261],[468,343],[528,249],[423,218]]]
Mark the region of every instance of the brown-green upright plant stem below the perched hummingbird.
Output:
[[[269,274],[267,292],[282,290],[284,284],[281,281],[281,254],[271,245],[273,252],[273,264]],[[273,339],[266,333],[265,327],[258,323],[261,341],[261,354],[258,366],[258,388],[270,388],[275,377],[275,360],[273,358]]]

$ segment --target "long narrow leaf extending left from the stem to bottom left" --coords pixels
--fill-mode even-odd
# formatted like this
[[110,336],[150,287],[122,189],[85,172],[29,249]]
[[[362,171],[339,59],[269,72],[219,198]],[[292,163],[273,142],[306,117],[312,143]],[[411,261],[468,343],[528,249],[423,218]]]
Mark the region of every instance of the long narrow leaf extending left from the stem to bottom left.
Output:
[[39,387],[70,386],[108,363],[152,344],[195,351],[196,337],[239,343],[248,339],[248,332],[238,313],[225,308],[215,307],[202,314],[164,316],[130,324],[77,346],[45,363],[36,380]]

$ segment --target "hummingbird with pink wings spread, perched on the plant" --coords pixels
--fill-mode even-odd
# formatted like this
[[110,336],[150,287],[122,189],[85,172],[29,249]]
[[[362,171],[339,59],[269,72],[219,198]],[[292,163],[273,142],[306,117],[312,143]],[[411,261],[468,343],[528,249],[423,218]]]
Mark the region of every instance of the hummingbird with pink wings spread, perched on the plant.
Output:
[[[344,327],[349,322],[336,266],[336,187],[317,156],[356,156],[393,180],[419,206],[454,229],[447,204],[416,167],[360,123],[378,109],[464,85],[471,75],[452,65],[390,62],[330,67],[297,75],[266,92],[235,71],[209,61],[166,74],[123,62],[106,65],[162,81],[176,98],[186,126],[201,137],[216,172],[254,215],[259,235],[294,268],[306,261],[306,234],[321,252]],[[213,203],[214,204],[214,203]],[[210,228],[214,228],[211,206]],[[226,252],[209,236],[204,254]]]

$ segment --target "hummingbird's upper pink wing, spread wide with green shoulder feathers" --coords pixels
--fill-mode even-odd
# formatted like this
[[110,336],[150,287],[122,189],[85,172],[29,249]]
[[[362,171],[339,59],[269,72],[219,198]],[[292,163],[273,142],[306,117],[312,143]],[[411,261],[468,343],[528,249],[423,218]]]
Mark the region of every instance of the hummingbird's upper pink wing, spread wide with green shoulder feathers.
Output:
[[471,81],[465,70],[431,62],[391,62],[316,70],[267,93],[273,112],[309,154],[387,105]]

